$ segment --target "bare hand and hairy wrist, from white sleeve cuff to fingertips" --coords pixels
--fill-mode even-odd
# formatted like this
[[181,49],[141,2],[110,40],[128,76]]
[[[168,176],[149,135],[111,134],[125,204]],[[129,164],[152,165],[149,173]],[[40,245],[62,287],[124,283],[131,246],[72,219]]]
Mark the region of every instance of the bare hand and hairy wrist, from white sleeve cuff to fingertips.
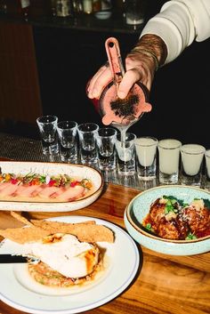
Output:
[[[117,95],[124,99],[135,83],[141,82],[150,92],[158,66],[165,63],[167,48],[164,41],[152,34],[142,36],[136,47],[125,58],[125,76],[118,86]],[[102,66],[87,86],[87,96],[99,99],[103,89],[112,80],[109,64]]]

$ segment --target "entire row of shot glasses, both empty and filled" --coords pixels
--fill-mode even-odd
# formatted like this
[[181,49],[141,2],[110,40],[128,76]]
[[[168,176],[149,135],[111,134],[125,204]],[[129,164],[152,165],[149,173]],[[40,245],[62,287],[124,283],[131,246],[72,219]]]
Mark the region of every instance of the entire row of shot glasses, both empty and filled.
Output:
[[158,181],[158,185],[183,184],[210,190],[210,149],[202,145],[182,144],[176,139],[158,141],[130,132],[122,141],[114,127],[59,122],[55,116],[38,117],[36,123],[43,153],[59,154],[61,162],[116,170],[119,175],[137,173],[140,181]]

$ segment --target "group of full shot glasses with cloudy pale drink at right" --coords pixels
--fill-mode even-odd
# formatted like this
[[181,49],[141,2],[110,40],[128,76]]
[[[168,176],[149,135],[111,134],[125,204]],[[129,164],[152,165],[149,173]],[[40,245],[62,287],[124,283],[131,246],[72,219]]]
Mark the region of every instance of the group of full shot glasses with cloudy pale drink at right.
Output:
[[210,190],[210,149],[176,139],[136,141],[137,172],[142,180],[157,176],[158,185],[188,185]]

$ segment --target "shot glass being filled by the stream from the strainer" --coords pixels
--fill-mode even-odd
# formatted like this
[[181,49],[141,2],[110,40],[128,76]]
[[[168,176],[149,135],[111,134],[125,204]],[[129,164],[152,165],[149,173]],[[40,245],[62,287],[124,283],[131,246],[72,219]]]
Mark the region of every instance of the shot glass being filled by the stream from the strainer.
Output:
[[125,141],[121,141],[120,133],[117,133],[117,173],[133,175],[136,173],[135,139],[133,133],[125,133]]

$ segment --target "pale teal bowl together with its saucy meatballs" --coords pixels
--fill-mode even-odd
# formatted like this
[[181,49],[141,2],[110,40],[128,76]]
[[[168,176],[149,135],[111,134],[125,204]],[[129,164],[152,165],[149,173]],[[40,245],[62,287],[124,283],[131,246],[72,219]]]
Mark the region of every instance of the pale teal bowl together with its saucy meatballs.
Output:
[[193,255],[210,251],[210,193],[188,186],[148,189],[125,208],[125,228],[150,250]]

